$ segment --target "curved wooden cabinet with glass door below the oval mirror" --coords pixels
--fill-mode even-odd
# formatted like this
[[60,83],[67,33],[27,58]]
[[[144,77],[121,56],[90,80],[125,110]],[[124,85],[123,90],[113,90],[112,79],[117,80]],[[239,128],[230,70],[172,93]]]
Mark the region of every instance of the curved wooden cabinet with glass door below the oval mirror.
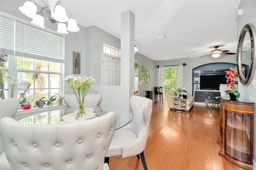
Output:
[[253,112],[254,102],[239,98],[230,101],[222,97],[220,105],[219,154],[229,162],[253,170]]

